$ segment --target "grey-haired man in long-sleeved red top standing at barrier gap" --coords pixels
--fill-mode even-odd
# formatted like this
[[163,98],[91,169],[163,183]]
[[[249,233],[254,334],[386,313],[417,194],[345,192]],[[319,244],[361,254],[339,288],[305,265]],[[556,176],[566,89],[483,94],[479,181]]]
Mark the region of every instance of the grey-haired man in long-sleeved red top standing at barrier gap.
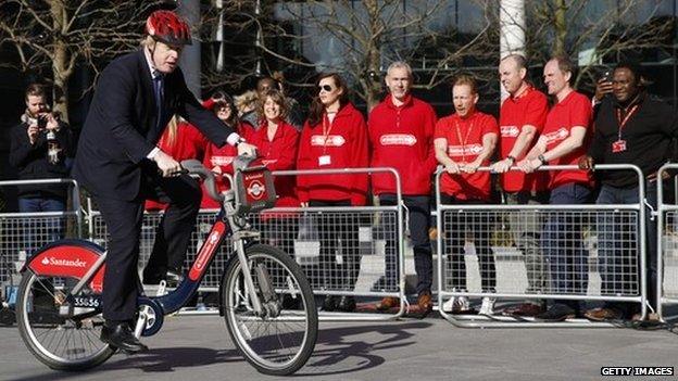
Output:
[[[417,306],[423,316],[432,309],[434,265],[428,228],[430,226],[430,177],[436,169],[434,129],[436,113],[430,104],[412,97],[412,68],[404,62],[392,63],[386,76],[389,94],[371,113],[367,122],[372,143],[371,167],[393,167],[400,174],[406,206],[410,239],[417,274]],[[375,174],[372,189],[381,205],[395,205],[395,179],[391,174]],[[387,241],[386,279],[392,284],[398,274],[394,240]],[[386,297],[378,309],[400,305]]]

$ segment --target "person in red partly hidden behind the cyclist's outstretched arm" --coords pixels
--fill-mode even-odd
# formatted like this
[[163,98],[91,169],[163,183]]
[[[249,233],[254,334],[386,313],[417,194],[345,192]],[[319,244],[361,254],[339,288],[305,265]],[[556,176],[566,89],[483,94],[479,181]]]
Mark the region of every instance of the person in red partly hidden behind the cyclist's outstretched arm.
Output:
[[[212,111],[216,114],[221,120],[224,120],[229,126],[234,126],[238,131],[238,135],[247,141],[251,139],[253,134],[252,126],[247,123],[240,122],[238,118],[238,113],[236,112],[236,106],[234,105],[233,98],[230,96],[224,93],[223,98],[213,102],[212,104],[208,104],[208,106],[212,107]],[[203,160],[203,164],[205,167],[212,169],[215,174],[234,174],[233,161],[238,156],[238,149],[236,147],[225,144],[222,148],[218,148],[214,144],[208,144],[205,149],[205,155]],[[226,191],[230,189],[230,181],[226,178],[217,177],[216,185],[219,192]],[[202,202],[200,204],[202,208],[218,208],[221,205],[212,200],[208,193],[202,192]]]

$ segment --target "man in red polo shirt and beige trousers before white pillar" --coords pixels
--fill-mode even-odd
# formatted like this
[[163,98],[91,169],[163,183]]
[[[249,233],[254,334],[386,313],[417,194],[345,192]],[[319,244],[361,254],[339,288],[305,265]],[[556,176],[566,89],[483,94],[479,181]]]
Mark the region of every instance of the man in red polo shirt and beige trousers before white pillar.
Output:
[[[549,105],[547,97],[535,89],[526,79],[527,61],[523,55],[511,54],[499,64],[502,86],[510,97],[504,100],[500,110],[500,156],[492,164],[492,170],[502,175],[504,200],[508,205],[543,204],[545,196],[545,174],[524,174],[511,172],[511,167],[523,160],[539,137]],[[511,213],[511,230],[515,245],[525,256],[527,270],[528,294],[541,293],[548,288],[548,270],[539,247],[539,232],[542,220],[536,213]],[[543,301],[525,303],[506,313],[535,316],[544,312]]]

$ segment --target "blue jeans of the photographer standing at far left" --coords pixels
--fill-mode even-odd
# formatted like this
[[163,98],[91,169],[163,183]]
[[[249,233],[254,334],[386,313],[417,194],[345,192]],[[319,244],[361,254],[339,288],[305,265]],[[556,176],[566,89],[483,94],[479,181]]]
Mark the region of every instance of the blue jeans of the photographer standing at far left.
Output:
[[[59,198],[20,198],[21,213],[64,212],[66,201]],[[25,217],[23,220],[24,249],[32,255],[40,246],[64,237],[63,216]]]

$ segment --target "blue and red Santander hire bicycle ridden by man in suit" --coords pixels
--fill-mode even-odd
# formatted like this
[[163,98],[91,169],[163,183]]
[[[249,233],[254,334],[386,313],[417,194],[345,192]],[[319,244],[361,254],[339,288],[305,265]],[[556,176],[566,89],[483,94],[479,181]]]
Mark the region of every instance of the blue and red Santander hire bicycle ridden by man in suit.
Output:
[[[210,196],[222,205],[216,220],[181,282],[161,296],[140,293],[137,338],[160,331],[163,317],[185,306],[198,291],[225,237],[231,233],[236,255],[219,284],[219,315],[233,342],[260,372],[290,374],[315,347],[317,309],[299,265],[277,247],[259,243],[248,215],[273,206],[271,173],[239,156],[231,190],[219,194],[214,174],[198,161],[185,161],[187,173],[204,180]],[[116,348],[99,340],[103,247],[84,240],[53,242],[24,266],[16,320],[28,350],[52,369],[83,370],[109,359]],[[289,308],[288,308],[289,307]]]

